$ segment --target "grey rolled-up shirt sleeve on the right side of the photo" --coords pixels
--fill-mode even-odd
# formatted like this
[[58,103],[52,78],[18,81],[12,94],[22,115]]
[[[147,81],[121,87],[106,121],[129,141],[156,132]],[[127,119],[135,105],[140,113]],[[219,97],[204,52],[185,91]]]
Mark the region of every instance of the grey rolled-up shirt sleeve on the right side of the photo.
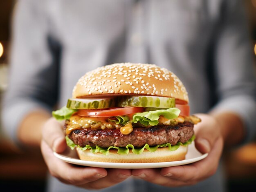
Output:
[[256,78],[243,1],[222,5],[216,40],[216,83],[219,102],[213,110],[238,114],[246,128],[244,142],[256,134]]

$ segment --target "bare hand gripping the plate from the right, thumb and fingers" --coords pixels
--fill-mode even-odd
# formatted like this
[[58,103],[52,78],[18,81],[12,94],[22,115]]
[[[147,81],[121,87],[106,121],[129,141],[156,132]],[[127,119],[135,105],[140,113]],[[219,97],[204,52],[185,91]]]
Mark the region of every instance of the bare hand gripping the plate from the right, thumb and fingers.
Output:
[[210,176],[217,168],[223,148],[220,125],[210,115],[198,114],[202,122],[195,125],[195,146],[209,155],[196,163],[162,169],[132,170],[132,175],[148,182],[168,187],[193,185]]

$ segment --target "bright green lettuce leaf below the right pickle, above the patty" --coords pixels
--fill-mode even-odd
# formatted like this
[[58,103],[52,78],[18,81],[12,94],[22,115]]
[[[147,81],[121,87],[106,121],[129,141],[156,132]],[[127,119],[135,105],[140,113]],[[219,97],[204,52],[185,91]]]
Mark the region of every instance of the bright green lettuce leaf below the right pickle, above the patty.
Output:
[[157,119],[160,115],[163,115],[166,119],[175,119],[179,116],[180,109],[168,108],[160,109],[155,111],[146,111],[143,113],[135,113],[132,117],[132,122],[137,123],[138,121],[144,126],[156,126],[158,124]]

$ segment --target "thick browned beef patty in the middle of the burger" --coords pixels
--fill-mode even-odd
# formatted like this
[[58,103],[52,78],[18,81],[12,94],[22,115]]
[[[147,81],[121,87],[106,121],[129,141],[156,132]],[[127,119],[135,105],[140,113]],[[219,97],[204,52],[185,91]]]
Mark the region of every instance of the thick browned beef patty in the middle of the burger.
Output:
[[150,128],[133,128],[128,135],[123,135],[119,129],[92,130],[83,128],[73,130],[68,137],[81,147],[85,145],[107,148],[109,146],[126,147],[132,144],[139,148],[148,143],[149,146],[161,145],[164,143],[177,144],[185,143],[194,134],[193,124],[184,122],[175,126],[152,126]]

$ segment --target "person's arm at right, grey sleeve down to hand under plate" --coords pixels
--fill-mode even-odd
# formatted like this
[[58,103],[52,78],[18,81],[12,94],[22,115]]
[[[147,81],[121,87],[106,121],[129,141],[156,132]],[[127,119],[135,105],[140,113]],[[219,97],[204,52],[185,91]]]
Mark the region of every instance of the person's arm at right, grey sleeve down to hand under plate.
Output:
[[215,56],[219,102],[208,115],[198,114],[202,122],[195,126],[195,146],[209,155],[185,166],[132,170],[132,175],[169,187],[193,185],[216,172],[224,143],[234,146],[254,136],[256,84],[241,2],[229,1],[224,14]]

